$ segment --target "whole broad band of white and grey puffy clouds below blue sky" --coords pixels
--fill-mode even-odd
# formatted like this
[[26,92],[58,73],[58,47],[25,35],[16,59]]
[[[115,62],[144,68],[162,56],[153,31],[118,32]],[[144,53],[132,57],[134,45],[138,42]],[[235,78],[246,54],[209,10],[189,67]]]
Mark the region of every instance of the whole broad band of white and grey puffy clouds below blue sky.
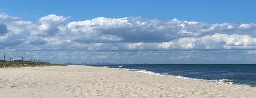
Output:
[[[5,14],[6,17],[8,15]],[[40,18],[38,24],[13,20],[7,23],[10,33],[7,33],[5,29],[7,35],[2,36],[2,39],[5,38],[5,43],[8,40],[17,39],[19,43],[14,45],[27,42],[28,45],[58,46],[58,48],[52,48],[55,50],[65,47],[86,51],[254,49],[256,43],[252,37],[255,36],[254,23],[207,24],[178,19],[150,20],[142,17],[117,19],[99,17],[66,23],[68,18],[70,17],[51,14]],[[219,34],[216,33],[217,31],[228,34]],[[233,33],[234,31],[241,34],[251,33],[250,35],[238,35]],[[39,39],[30,39],[31,37]],[[1,42],[4,43],[3,40]],[[69,45],[71,43],[73,45]],[[68,46],[73,46],[73,48],[68,48]]]

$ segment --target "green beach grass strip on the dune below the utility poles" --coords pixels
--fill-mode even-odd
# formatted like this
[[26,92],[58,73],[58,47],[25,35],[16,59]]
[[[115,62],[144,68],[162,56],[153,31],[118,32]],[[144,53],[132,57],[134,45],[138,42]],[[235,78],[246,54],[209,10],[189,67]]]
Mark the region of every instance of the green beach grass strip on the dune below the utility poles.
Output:
[[63,66],[63,64],[49,64],[49,63],[36,63],[36,62],[0,62],[0,68],[8,67],[44,67],[44,66]]

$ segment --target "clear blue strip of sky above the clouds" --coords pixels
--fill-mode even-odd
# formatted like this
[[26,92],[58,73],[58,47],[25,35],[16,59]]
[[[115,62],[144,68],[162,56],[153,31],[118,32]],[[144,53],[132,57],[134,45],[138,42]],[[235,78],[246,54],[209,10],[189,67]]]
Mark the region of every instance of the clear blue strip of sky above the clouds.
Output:
[[[49,14],[71,16],[70,21],[96,17],[255,23],[255,0],[1,0],[1,9],[23,20],[36,21]],[[37,16],[37,17],[35,17]]]

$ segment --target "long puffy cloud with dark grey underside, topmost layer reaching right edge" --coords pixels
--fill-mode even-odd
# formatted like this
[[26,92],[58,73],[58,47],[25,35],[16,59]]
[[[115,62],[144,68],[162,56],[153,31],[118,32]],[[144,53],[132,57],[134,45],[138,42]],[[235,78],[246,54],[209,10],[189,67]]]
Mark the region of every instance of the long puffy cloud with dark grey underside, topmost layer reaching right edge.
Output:
[[[256,36],[255,24],[206,24],[178,19],[160,21],[142,17],[104,18],[70,22],[61,27],[72,40],[82,43],[109,42],[168,42],[183,37],[203,37],[215,33]],[[247,30],[251,29],[251,30]]]

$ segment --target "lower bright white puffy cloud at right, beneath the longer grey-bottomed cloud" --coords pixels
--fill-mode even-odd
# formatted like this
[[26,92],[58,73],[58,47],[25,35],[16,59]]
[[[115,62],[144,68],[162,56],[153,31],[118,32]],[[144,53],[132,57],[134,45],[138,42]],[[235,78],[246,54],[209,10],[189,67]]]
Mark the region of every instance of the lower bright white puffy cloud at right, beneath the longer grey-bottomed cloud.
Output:
[[256,38],[250,35],[214,34],[204,37],[179,38],[170,42],[163,42],[158,49],[164,50],[229,50],[256,49]]

